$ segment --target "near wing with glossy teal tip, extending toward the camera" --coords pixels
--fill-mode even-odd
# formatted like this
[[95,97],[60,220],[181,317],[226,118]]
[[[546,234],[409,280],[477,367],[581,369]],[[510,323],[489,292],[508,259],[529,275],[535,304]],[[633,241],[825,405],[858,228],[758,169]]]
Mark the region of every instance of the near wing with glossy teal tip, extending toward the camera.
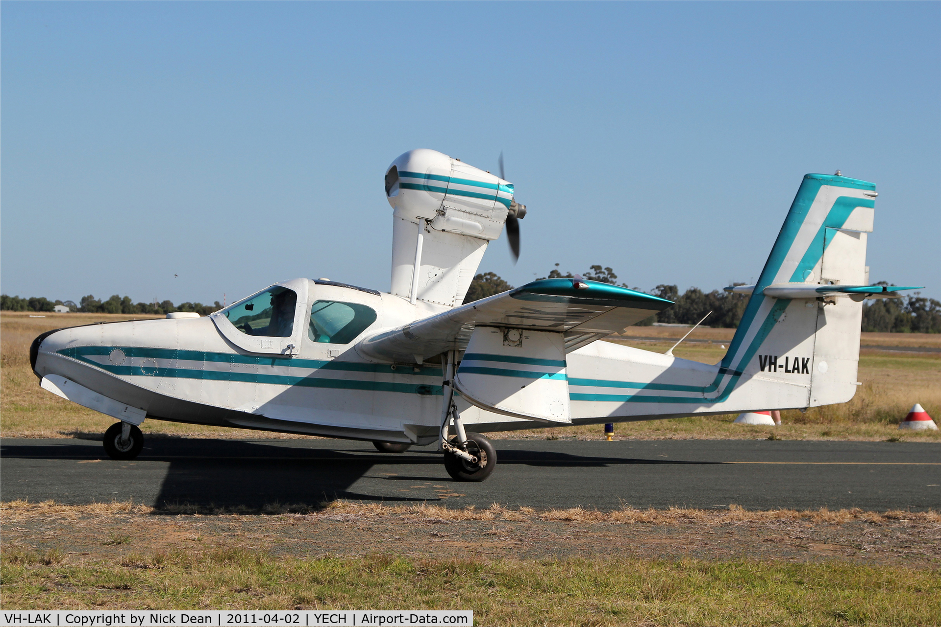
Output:
[[357,351],[384,362],[422,363],[447,351],[464,351],[477,326],[495,326],[561,333],[571,353],[671,305],[607,283],[543,279],[368,337]]

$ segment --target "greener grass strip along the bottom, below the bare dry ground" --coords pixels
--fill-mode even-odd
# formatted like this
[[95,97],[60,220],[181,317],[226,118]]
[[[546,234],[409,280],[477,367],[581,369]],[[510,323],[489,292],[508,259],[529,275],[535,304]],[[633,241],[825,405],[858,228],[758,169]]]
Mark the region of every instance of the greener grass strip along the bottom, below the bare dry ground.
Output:
[[2,559],[4,607],[452,609],[478,625],[933,625],[937,572],[837,561],[270,556],[239,548],[66,564]]

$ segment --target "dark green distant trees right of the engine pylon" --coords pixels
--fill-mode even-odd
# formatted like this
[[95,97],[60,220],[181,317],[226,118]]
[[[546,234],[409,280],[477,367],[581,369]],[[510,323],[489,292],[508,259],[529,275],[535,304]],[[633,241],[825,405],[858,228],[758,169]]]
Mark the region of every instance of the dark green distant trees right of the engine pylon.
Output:
[[[559,264],[556,263],[555,268],[547,276],[541,276],[536,280],[573,277],[574,274],[570,272],[562,274],[559,270]],[[614,274],[614,270],[610,267],[593,265],[588,272],[582,273],[582,278],[630,288],[627,283],[617,283],[617,274]],[[732,285],[744,285],[744,283],[733,283]],[[876,285],[887,286],[889,284],[880,281]],[[470,283],[470,290],[468,290],[464,302],[471,303],[486,298],[486,296],[512,289],[512,285],[495,273],[477,274]],[[646,291],[639,288],[630,289]],[[646,293],[673,301],[675,305],[638,322],[637,326],[649,326],[654,322],[695,324],[711,311],[712,314],[703,322],[704,324],[734,329],[739,326],[739,321],[742,320],[742,314],[745,312],[745,306],[748,304],[749,298],[725,290],[706,292],[699,288],[690,288],[680,294],[676,285],[666,284],[658,285],[653,290],[646,291]],[[933,298],[923,298],[918,295],[918,292],[913,296],[903,296],[902,298],[866,301],[863,303],[862,330],[876,333],[941,333],[941,301],[936,301]]]

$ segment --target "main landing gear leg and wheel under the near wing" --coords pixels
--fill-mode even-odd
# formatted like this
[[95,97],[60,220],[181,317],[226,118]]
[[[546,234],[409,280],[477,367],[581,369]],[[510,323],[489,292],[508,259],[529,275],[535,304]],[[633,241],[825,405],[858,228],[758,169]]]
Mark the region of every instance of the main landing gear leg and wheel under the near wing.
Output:
[[[441,382],[444,400],[441,405],[441,429],[438,447],[444,451],[444,469],[456,481],[483,481],[497,467],[497,451],[480,433],[464,431],[455,405],[455,352],[448,351]],[[449,424],[454,422],[456,437],[448,440]]]

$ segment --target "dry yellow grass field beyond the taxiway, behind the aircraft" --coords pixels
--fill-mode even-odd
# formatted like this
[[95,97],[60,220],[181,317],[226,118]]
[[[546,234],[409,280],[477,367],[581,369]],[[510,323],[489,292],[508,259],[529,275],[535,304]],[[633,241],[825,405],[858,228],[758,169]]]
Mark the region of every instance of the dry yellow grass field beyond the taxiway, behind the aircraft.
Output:
[[[0,434],[5,437],[73,437],[104,433],[113,420],[42,390],[29,368],[29,344],[44,331],[96,321],[140,319],[140,316],[98,314],[0,314]],[[664,352],[686,333],[678,327],[631,327],[613,341],[649,351]],[[732,329],[696,329],[675,353],[686,359],[715,363],[731,339]],[[643,339],[637,339],[638,337]],[[711,343],[705,343],[709,342]],[[843,405],[814,408],[801,414],[784,412],[781,427],[743,427],[734,415],[674,418],[615,426],[618,439],[661,438],[767,438],[941,441],[941,431],[899,431],[898,423],[916,402],[936,419],[941,417],[941,352],[906,352],[903,349],[941,349],[941,335],[863,334],[859,379],[855,398]],[[880,349],[865,348],[879,346]],[[899,347],[899,351],[885,350]],[[199,427],[155,420],[141,426],[146,434],[202,437],[306,437],[264,431]],[[493,433],[497,438],[600,438],[601,428],[569,427]]]

